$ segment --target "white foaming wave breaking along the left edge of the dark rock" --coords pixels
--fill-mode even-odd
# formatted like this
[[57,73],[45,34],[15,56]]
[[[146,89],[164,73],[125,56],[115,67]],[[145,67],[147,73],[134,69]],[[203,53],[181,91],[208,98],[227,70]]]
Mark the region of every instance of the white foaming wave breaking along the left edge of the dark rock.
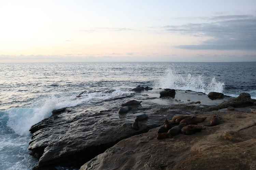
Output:
[[76,98],[77,94],[66,95],[52,95],[43,97],[32,108],[12,108],[5,111],[8,114],[9,120],[7,126],[11,128],[16,134],[21,136],[28,136],[29,129],[32,125],[48,118],[52,115],[54,109],[64,107],[73,107],[83,103],[98,102],[113,97],[124,96],[131,93],[128,89],[118,89],[112,92],[91,92],[86,96]]

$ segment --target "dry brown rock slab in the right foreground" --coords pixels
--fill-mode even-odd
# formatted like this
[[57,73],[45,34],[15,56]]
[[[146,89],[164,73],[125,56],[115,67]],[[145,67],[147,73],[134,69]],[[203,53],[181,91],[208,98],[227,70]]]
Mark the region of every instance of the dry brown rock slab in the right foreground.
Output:
[[221,118],[216,126],[193,135],[179,134],[157,140],[157,129],[118,142],[91,159],[81,170],[255,170],[256,114],[253,107],[199,113],[209,124],[213,114]]

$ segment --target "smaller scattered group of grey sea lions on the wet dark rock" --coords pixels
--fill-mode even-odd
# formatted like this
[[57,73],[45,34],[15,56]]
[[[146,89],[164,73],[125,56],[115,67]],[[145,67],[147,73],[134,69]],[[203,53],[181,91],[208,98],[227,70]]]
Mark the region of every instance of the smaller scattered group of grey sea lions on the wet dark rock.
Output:
[[[141,102],[142,101],[138,101],[138,100],[130,100],[126,103],[123,103],[123,104],[121,104],[121,106],[123,106],[123,107],[119,108],[118,113],[127,113],[128,111],[130,111],[132,109],[132,107],[130,105],[138,105],[138,104],[141,104]],[[148,118],[147,114],[142,114],[142,115],[136,116],[134,122],[131,125],[131,128],[135,129],[135,130],[140,129],[138,122],[141,120],[147,119],[147,118]]]

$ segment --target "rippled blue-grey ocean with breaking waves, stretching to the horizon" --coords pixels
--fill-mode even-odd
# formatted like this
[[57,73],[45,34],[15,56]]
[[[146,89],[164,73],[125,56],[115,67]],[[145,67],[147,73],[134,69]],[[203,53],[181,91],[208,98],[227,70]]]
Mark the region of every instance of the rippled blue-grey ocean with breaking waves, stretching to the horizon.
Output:
[[[30,127],[53,109],[129,95],[137,85],[256,99],[256,62],[0,63],[0,167],[31,169]],[[108,90],[115,89],[112,92]],[[75,98],[82,91],[95,91]]]

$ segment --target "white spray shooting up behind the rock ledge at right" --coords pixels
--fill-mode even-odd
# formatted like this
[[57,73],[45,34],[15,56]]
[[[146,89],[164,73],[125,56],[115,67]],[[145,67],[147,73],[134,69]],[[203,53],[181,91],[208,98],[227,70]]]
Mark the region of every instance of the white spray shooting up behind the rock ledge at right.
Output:
[[192,90],[208,94],[211,91],[223,92],[224,83],[216,82],[214,77],[211,82],[205,83],[202,75],[193,76],[187,74],[182,76],[169,69],[163,77],[154,83],[154,88]]

